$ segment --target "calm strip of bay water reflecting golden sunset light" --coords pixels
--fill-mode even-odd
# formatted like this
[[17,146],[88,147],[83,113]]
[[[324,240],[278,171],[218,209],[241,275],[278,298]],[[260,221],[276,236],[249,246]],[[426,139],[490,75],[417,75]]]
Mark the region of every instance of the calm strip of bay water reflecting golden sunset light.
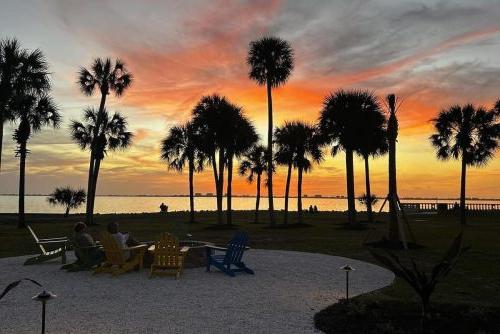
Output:
[[[168,205],[169,211],[183,211],[189,208],[189,197],[121,197],[121,196],[97,196],[95,200],[96,213],[141,213],[141,212],[159,212],[161,203]],[[374,210],[378,211],[382,205],[380,200]],[[452,200],[408,200],[403,202],[454,202]],[[487,201],[484,203],[500,203],[500,201]],[[316,205],[320,211],[345,211],[347,209],[347,200],[339,198],[313,198],[307,197],[302,200],[302,207],[309,208],[309,205]],[[47,202],[46,196],[26,196],[26,212],[28,213],[63,213],[62,207],[51,206]],[[225,201],[224,201],[225,207]],[[274,207],[277,210],[284,208],[284,199],[275,198]],[[365,207],[356,203],[359,211],[365,210]],[[195,198],[196,210],[215,210],[215,197],[197,197]],[[290,210],[297,209],[297,199],[290,198]],[[253,210],[255,209],[255,198],[252,197],[234,197],[234,210]],[[260,209],[267,209],[267,198],[261,200]],[[387,205],[384,211],[387,209]],[[74,213],[84,212],[85,205]],[[17,196],[0,196],[0,213],[17,212]]]

